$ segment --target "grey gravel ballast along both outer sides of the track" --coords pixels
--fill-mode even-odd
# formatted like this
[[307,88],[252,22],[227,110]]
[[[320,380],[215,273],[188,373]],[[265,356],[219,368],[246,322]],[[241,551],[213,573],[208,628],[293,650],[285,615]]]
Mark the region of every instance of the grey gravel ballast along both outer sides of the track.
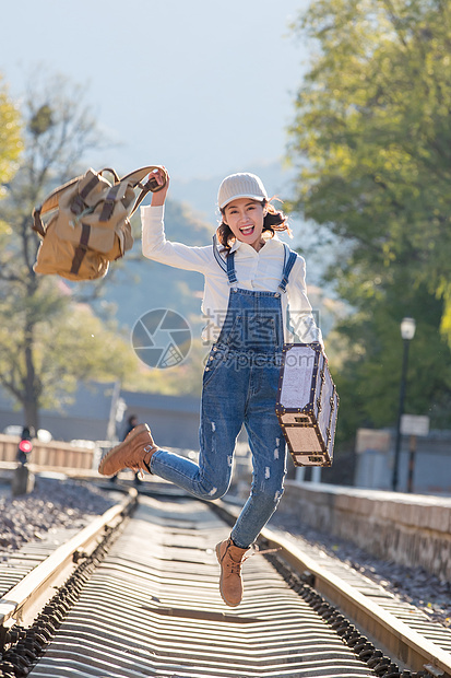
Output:
[[[88,481],[37,477],[33,492],[13,498],[0,486],[0,553],[2,560],[28,541],[48,537],[59,528],[82,528],[102,515],[115,501]],[[318,550],[347,563],[400,599],[451,627],[451,584],[420,568],[405,568],[378,560],[351,541],[324,535],[302,524],[295,515],[276,512],[270,528],[289,539],[306,540]]]

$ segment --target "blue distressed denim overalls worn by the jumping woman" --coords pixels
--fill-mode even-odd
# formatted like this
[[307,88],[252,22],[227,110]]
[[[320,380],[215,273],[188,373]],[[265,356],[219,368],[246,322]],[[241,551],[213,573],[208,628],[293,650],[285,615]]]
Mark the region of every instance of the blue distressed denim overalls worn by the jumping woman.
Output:
[[203,374],[199,466],[159,449],[152,456],[151,469],[195,496],[218,499],[230,484],[235,444],[244,423],[253,477],[232,539],[236,546],[247,548],[274,513],[283,493],[286,451],[275,414],[284,343],[281,294],[285,293],[297,255],[285,245],[277,292],[239,289],[235,253],[227,256],[227,262],[217,250],[215,256],[228,276],[230,293],[226,318]]

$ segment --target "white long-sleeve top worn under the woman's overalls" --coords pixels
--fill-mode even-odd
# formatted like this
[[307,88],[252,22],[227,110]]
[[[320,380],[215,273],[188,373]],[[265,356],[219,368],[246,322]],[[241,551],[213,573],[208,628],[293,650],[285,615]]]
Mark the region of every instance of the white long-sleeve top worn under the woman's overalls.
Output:
[[[230,287],[227,274],[215,259],[213,244],[191,247],[166,239],[164,206],[141,207],[142,252],[144,257],[188,271],[198,271],[205,278],[202,312],[206,319],[202,338],[205,342],[217,339],[227,313]],[[277,292],[284,267],[284,244],[274,237],[257,252],[247,243],[236,241],[235,269],[237,287],[245,290]],[[221,252],[221,248],[219,248]],[[225,255],[221,254],[225,260]],[[280,291],[280,290],[278,290]],[[282,294],[282,317],[285,342],[300,341],[322,344],[307,297],[306,264],[298,256],[288,278],[286,294]]]

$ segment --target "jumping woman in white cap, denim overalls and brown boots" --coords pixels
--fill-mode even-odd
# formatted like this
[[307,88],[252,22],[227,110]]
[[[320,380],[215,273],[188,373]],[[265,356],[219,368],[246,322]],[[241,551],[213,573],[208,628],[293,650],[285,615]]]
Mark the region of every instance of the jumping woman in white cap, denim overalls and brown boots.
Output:
[[[162,171],[154,175],[164,184]],[[216,546],[219,591],[228,606],[242,598],[241,563],[277,507],[286,474],[285,440],[275,413],[284,342],[322,343],[307,297],[305,261],[277,232],[286,217],[270,202],[261,179],[227,176],[217,206],[222,221],[205,247],[168,242],[164,203],[169,186],[141,208],[143,255],[154,261],[203,273],[202,311],[213,343],[203,373],[199,464],[162,449],[146,424],[102,459],[99,472],[147,470],[194,496],[215,500],[230,484],[237,436],[245,424],[252,454],[250,495],[228,539]],[[289,231],[288,231],[289,233]]]

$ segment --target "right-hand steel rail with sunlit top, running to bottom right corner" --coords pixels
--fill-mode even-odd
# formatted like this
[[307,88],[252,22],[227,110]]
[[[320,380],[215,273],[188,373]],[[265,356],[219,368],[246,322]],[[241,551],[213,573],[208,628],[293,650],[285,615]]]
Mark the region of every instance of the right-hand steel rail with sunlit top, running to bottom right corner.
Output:
[[[224,501],[214,502],[222,513],[235,518],[239,510]],[[411,670],[428,670],[432,676],[451,678],[451,654],[439,647],[393,613],[368,599],[340,576],[328,572],[301,548],[265,527],[260,541],[264,548],[277,550],[277,556],[300,575],[308,574],[313,588],[331,605],[372,636],[384,650]]]

